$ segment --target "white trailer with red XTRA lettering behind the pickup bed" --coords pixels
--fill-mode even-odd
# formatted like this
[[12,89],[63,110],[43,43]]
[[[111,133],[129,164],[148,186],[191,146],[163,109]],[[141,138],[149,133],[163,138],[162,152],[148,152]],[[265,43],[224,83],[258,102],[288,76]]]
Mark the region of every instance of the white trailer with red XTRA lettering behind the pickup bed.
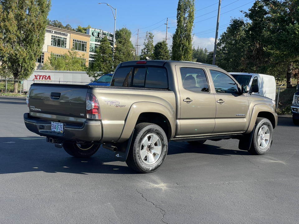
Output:
[[27,80],[23,81],[23,92],[27,93],[30,85],[36,82],[85,85],[92,82],[92,78],[86,72],[35,70]]

